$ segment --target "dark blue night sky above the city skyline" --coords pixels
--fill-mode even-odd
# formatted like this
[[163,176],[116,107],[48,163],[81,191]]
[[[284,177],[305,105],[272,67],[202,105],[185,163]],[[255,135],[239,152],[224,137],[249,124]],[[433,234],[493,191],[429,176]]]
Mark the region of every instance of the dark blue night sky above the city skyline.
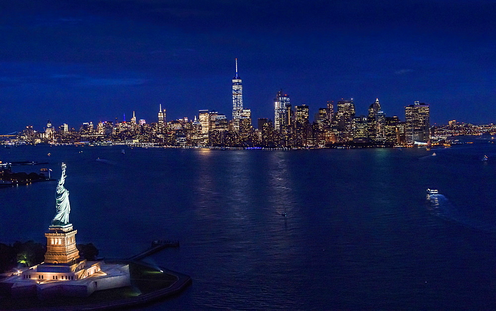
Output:
[[494,0],[16,0],[0,16],[1,134],[133,110],[151,123],[159,104],[230,117],[235,58],[253,120],[282,88],[311,114],[378,97],[402,120],[419,100],[433,124],[496,122]]

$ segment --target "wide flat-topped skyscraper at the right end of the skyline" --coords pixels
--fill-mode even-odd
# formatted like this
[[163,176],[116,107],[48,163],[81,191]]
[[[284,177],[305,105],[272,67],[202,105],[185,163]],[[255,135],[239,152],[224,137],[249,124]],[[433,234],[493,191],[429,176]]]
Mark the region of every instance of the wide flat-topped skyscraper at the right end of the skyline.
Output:
[[405,138],[407,142],[428,142],[430,139],[429,105],[415,102],[405,107]]

